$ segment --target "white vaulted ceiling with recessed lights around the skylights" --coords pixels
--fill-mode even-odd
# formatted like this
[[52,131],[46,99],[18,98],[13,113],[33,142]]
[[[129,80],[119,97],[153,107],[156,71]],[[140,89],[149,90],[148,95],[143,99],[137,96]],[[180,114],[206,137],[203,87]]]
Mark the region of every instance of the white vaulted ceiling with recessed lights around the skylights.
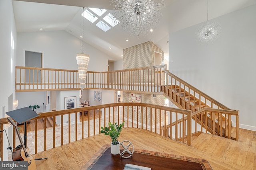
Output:
[[[133,37],[120,24],[104,32],[84,20],[84,41],[113,58],[122,59],[123,49],[153,41],[168,55],[168,35],[174,31],[206,21],[207,0],[165,0],[158,27],[146,36]],[[82,8],[112,10],[110,0],[12,0],[17,32],[65,30],[82,35]],[[209,0],[208,19],[256,4],[256,0]],[[43,28],[43,30],[39,30]],[[129,42],[126,41],[129,39]],[[111,49],[109,49],[111,47]]]

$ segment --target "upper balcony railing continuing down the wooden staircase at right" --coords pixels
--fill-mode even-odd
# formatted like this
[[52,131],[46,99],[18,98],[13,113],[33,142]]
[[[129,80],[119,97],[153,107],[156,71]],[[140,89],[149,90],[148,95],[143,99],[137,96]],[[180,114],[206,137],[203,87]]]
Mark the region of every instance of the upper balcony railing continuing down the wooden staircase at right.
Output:
[[[33,76],[37,77],[32,78],[36,80],[35,83],[30,83],[30,78],[26,78],[25,72],[28,72],[28,77],[31,77],[31,70],[33,70]],[[41,72],[38,74],[38,70]],[[35,74],[36,72],[36,74]],[[31,68],[31,67],[18,67],[16,66],[16,92],[18,91],[38,91],[38,90],[78,90],[79,89],[79,80],[78,80],[78,71],[76,70],[57,70],[57,69],[48,69],[48,68]],[[17,76],[18,75],[18,76]],[[40,78],[38,78],[40,75]],[[39,83],[38,80],[41,80]],[[28,80],[28,83],[24,83]],[[23,83],[21,83],[23,81]],[[33,81],[34,82],[34,81]],[[24,87],[24,88],[21,88]],[[206,95],[204,92],[201,92],[194,86],[188,84],[184,80],[178,78],[174,74],[166,70],[166,65],[143,67],[143,68],[134,68],[127,70],[116,70],[110,72],[87,72],[85,89],[107,89],[107,90],[121,90],[121,91],[139,91],[140,93],[158,93],[166,96],[172,103],[178,106],[180,109],[191,110],[192,113],[199,111],[201,117],[207,116],[207,118],[196,119],[193,117],[194,121],[197,124],[200,124],[200,128],[206,129],[212,134],[222,134],[221,136],[229,137],[231,132],[229,126],[231,126],[231,121],[236,125],[235,131],[236,137],[231,137],[231,139],[238,140],[238,111],[233,113],[231,109],[224,106],[220,102],[214,100],[210,96]],[[216,109],[214,115],[212,111],[207,111],[204,113],[204,108],[207,109]],[[202,110],[203,109],[203,110]],[[221,112],[219,109],[224,111],[229,110],[230,112]],[[202,112],[202,113],[201,113]],[[196,112],[197,113],[197,112]],[[220,114],[221,113],[221,114]],[[237,116],[230,116],[230,115]],[[218,121],[216,121],[216,117]],[[181,117],[178,118],[178,120]],[[186,117],[184,117],[186,119]],[[204,122],[204,121],[207,122]],[[200,123],[202,122],[203,123]],[[209,122],[212,122],[210,124]],[[215,122],[215,123],[213,123]],[[221,124],[222,122],[222,124]],[[176,123],[175,126],[185,126]],[[204,126],[204,127],[203,127]],[[172,127],[163,127],[163,129],[168,129]],[[219,127],[219,130],[218,128]],[[222,128],[220,128],[222,127]],[[172,131],[169,131],[172,133]],[[223,133],[222,133],[223,132]],[[167,135],[168,133],[165,132]],[[177,135],[178,133],[176,133]],[[170,134],[170,137],[174,139],[182,137],[184,134],[174,135]]]

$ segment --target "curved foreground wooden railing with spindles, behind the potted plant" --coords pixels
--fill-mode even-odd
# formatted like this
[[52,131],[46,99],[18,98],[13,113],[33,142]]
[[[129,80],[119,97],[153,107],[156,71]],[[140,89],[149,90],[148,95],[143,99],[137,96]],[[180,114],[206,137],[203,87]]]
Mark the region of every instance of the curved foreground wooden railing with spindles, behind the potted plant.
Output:
[[[84,115],[84,111],[87,111],[86,115]],[[80,112],[83,114],[80,115]],[[52,117],[53,122],[57,122],[53,123],[52,127],[46,128],[46,119],[48,117]],[[185,119],[185,117],[187,119]],[[166,129],[161,128],[163,125],[166,126],[170,121],[178,124],[177,120],[180,118],[182,118],[180,122],[182,126],[172,127],[169,134],[162,133],[162,131],[166,131]],[[37,122],[39,119],[44,120],[43,129],[38,129]],[[0,119],[1,130],[8,126],[8,121],[6,120],[6,118]],[[32,120],[35,120],[35,123],[29,126],[34,126],[35,130],[27,132],[26,134],[26,147],[30,149],[31,154],[99,134],[100,127],[105,127],[110,121],[117,122],[118,124],[125,121],[124,127],[142,128],[166,137],[174,135],[176,140],[186,136],[188,139],[187,145],[191,145],[191,111],[154,104],[115,103],[80,107],[40,113],[38,117],[30,121]],[[68,123],[64,120],[67,120]],[[73,122],[73,124],[71,122]],[[23,136],[24,134],[21,135]],[[20,144],[15,135],[15,131],[13,136],[12,147]],[[0,136],[0,150],[3,159],[2,141],[3,135]]]

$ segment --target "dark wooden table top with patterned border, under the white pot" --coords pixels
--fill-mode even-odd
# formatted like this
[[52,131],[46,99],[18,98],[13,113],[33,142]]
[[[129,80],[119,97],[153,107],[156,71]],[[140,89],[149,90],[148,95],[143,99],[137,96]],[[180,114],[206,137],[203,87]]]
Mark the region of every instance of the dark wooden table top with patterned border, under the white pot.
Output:
[[123,170],[125,164],[149,167],[152,170],[212,170],[204,159],[191,158],[148,150],[134,149],[130,158],[121,158],[110,153],[110,145],[104,145],[81,170]]

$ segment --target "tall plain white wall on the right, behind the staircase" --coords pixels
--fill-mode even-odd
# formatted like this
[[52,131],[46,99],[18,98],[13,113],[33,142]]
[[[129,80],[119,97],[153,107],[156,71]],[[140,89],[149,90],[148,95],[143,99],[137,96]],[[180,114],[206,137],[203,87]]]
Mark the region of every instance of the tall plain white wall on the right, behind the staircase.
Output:
[[200,24],[170,34],[169,70],[230,109],[240,110],[240,127],[256,130],[256,5],[210,21],[222,29],[213,43],[197,40]]

